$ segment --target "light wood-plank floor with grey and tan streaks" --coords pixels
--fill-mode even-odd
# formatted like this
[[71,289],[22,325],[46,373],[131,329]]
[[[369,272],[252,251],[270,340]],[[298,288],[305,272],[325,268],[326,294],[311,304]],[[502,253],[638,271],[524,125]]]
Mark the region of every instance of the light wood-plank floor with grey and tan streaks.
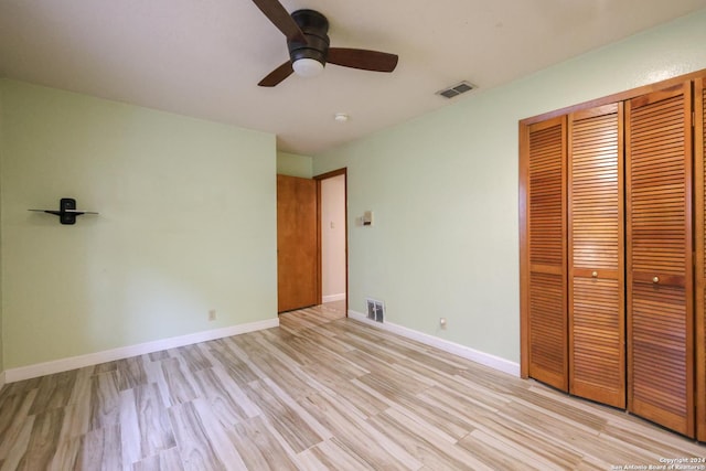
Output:
[[623,411],[335,306],[0,393],[0,470],[610,470],[703,457]]

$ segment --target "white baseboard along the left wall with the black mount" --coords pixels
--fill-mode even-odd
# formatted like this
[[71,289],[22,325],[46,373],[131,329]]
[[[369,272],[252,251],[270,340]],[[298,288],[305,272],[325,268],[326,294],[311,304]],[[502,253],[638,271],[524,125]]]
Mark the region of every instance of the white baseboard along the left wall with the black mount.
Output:
[[116,360],[129,358],[130,356],[145,355],[147,353],[160,352],[167,349],[192,345],[199,342],[207,342],[210,340],[223,339],[225,336],[239,335],[242,333],[255,332],[276,327],[279,327],[279,318],[196,332],[188,335],[173,336],[170,339],[156,340],[153,342],[146,342],[137,345],[120,346],[118,349],[105,350],[103,352],[88,353],[79,356],[71,356],[46,363],[36,363],[34,365],[6,370],[2,373],[2,376],[0,376],[0,382],[4,383],[7,381],[8,383],[14,383],[22,379],[66,372],[69,370],[82,368],[84,366],[114,362]]

